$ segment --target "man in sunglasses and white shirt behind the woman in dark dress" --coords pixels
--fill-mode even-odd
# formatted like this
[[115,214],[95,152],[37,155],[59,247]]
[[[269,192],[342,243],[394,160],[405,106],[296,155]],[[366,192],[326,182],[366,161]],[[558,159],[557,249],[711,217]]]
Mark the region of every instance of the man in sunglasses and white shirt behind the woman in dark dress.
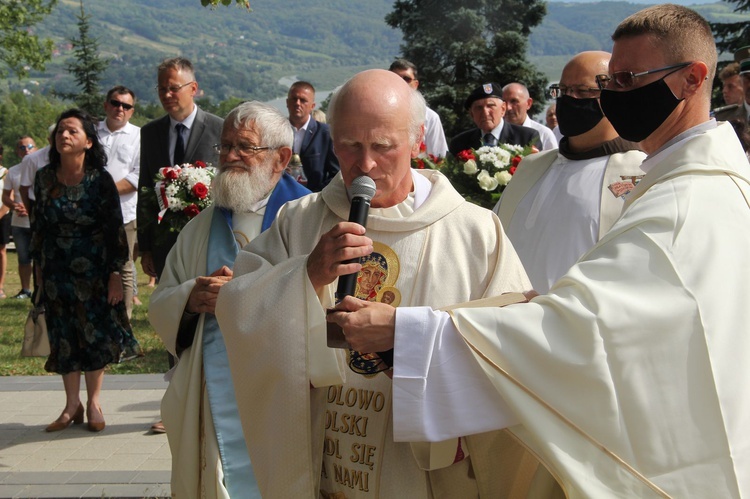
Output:
[[115,86],[107,92],[104,99],[106,118],[99,122],[97,128],[99,141],[107,153],[106,170],[112,175],[117,186],[117,193],[120,195],[122,221],[128,238],[128,261],[120,270],[128,318],[133,313],[133,295],[136,286],[133,249],[136,239],[135,213],[138,201],[136,189],[141,156],[141,129],[130,123],[134,111],[135,93],[122,85]]

